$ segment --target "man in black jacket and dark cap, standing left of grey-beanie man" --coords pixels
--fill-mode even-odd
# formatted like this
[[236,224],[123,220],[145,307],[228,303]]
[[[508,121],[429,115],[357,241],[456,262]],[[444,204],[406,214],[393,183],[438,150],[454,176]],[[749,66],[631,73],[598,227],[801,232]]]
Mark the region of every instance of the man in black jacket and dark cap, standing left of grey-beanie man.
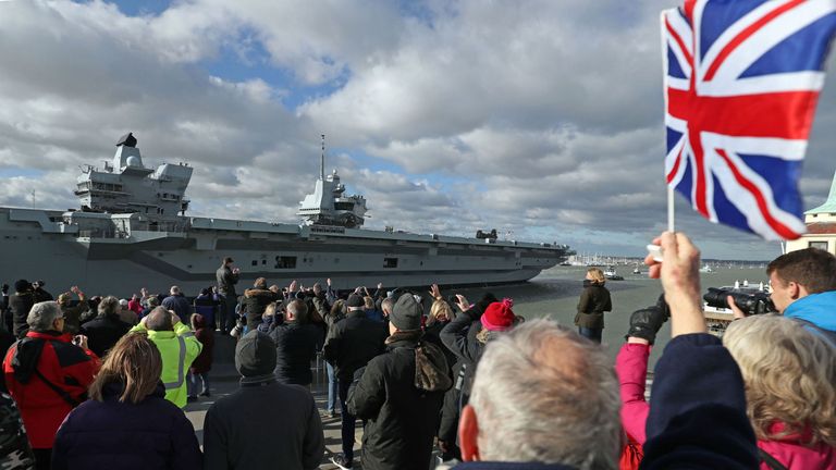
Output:
[[357,294],[349,295],[346,306],[348,314],[334,324],[324,345],[325,360],[334,366],[334,374],[340,381],[343,454],[335,456],[332,461],[342,469],[353,466],[354,426],[357,420],[347,411],[345,405],[348,387],[354,380],[354,373],[374,356],[383,352],[383,342],[388,336],[382,323],[366,318],[362,297]]

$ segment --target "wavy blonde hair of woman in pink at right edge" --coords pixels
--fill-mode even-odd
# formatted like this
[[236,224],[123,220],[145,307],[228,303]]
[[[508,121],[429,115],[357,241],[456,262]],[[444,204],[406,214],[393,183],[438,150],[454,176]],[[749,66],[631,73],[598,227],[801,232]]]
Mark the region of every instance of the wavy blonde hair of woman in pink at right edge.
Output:
[[[723,344],[740,367],[747,415],[759,440],[806,434],[807,444],[836,445],[836,354],[821,335],[778,316],[729,325]],[[779,432],[771,426],[780,422]]]

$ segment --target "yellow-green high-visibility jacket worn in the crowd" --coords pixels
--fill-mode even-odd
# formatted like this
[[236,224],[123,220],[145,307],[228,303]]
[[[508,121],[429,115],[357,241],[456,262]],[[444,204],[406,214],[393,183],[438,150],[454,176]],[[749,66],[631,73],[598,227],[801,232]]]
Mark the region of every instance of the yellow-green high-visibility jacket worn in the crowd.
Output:
[[174,331],[149,331],[144,324],[131,329],[131,333],[146,333],[148,339],[157,345],[162,356],[162,376],[165,386],[165,399],[183,408],[186,406],[186,373],[188,367],[200,354],[204,345],[195,337],[190,327],[183,323],[174,325]]

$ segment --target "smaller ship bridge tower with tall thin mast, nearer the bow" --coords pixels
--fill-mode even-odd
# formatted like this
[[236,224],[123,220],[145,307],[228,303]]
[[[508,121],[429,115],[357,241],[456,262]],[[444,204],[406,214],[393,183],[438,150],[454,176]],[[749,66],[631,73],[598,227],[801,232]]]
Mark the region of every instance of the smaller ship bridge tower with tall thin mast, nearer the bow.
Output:
[[325,176],[325,135],[322,134],[322,154],[319,163],[319,180],[314,193],[305,196],[296,215],[306,225],[336,225],[356,228],[366,217],[366,198],[360,195],[345,196],[345,185],[340,183],[336,170]]

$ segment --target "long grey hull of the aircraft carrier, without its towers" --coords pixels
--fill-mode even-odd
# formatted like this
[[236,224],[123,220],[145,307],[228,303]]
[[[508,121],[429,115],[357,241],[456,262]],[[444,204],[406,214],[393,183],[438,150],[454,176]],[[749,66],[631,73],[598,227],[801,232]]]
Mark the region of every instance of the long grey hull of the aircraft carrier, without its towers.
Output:
[[[85,227],[95,227],[86,230]],[[337,288],[518,283],[564,261],[565,245],[340,226],[181,217],[155,224],[140,214],[0,208],[3,282],[44,280],[60,292],[128,296],[179,285],[188,294],[214,285],[224,257],[257,277],[309,286],[331,277]]]

